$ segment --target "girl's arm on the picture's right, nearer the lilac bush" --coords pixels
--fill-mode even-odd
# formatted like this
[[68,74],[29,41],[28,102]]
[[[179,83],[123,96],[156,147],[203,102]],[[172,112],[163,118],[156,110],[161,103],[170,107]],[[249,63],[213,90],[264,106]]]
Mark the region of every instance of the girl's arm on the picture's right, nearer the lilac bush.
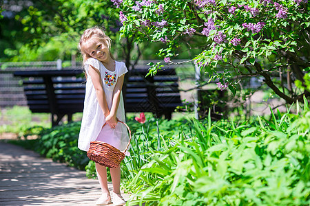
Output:
[[125,75],[118,77],[118,80],[116,82],[116,85],[113,91],[112,107],[111,107],[110,115],[108,115],[105,118],[105,122],[109,123],[110,126],[112,126],[112,128],[115,128],[117,124],[116,113],[117,113],[119,101],[121,100],[121,91],[123,87],[124,76]]

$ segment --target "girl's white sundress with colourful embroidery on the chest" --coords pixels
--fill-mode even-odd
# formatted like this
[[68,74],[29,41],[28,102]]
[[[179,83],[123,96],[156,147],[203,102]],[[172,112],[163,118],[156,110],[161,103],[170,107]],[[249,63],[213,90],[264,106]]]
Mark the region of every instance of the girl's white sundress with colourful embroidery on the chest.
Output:
[[[84,65],[87,74],[87,81],[78,147],[81,150],[87,151],[90,148],[90,141],[100,140],[123,151],[129,141],[127,128],[124,124],[118,122],[114,129],[107,124],[101,130],[103,124],[105,124],[105,115],[103,115],[103,111],[96,98],[96,90],[94,89],[94,84],[92,84],[92,79],[88,74],[88,69],[89,65],[92,65],[92,67],[98,69],[101,73],[105,99],[107,100],[108,108],[111,109],[115,84],[119,76],[127,73],[128,70],[126,65],[124,62],[115,61],[115,71],[110,71],[105,68],[102,62],[95,58],[87,59]],[[123,93],[121,93],[116,117],[125,122]]]

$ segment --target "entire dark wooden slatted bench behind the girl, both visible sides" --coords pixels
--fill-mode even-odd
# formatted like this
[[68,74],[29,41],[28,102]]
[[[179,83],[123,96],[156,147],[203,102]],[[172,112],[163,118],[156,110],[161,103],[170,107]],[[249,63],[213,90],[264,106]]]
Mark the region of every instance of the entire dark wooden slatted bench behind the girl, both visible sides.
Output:
[[[174,69],[147,76],[147,68],[132,69],[124,84],[125,112],[152,112],[170,119],[181,105],[178,77]],[[83,112],[85,78],[81,69],[15,71],[23,78],[23,89],[32,113],[51,113],[52,126],[67,115]]]

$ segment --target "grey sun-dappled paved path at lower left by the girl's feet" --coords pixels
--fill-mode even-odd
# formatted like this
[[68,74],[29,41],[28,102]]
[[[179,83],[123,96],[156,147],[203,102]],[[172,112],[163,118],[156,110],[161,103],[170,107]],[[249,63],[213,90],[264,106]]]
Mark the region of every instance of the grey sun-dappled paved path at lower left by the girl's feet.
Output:
[[95,205],[100,195],[85,172],[0,141],[0,205]]

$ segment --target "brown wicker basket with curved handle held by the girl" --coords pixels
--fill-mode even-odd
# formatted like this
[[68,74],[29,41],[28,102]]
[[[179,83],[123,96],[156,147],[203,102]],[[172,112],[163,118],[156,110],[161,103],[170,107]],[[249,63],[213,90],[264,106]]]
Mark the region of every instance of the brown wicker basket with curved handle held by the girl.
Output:
[[[121,121],[118,120],[118,122]],[[125,122],[121,123],[125,124]],[[103,126],[105,126],[106,124],[107,123],[103,124]],[[121,161],[123,161],[123,159],[125,158],[125,152],[130,146],[130,140],[132,139],[132,133],[130,131],[130,128],[127,126],[127,124],[125,124],[125,126],[127,127],[127,130],[129,132],[130,139],[127,147],[123,152],[103,141],[92,141],[90,142],[90,149],[87,151],[87,157],[90,158],[92,161],[99,163],[100,165],[103,165],[105,167],[118,168]]]

